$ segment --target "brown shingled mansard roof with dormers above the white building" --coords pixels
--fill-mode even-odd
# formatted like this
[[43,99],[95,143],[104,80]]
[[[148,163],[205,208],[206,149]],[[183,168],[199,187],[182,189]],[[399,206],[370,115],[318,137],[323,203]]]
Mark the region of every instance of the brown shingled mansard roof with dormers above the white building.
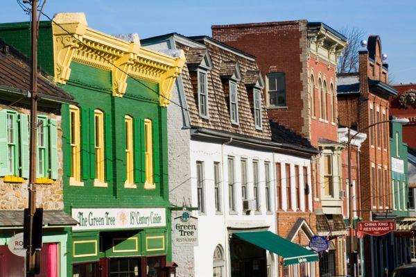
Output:
[[[227,50],[226,47],[218,47],[217,44],[211,42],[212,39],[198,40],[198,42],[205,44],[212,62],[212,69],[207,72],[208,82],[208,110],[209,119],[202,119],[198,113],[198,99],[197,99],[197,81],[196,74],[189,72],[189,63],[196,61],[196,53],[202,53],[202,49],[192,49],[176,42],[177,49],[182,49],[187,57],[187,63],[182,70],[182,83],[184,87],[184,94],[187,99],[187,106],[189,109],[189,117],[191,119],[191,126],[209,128],[218,131],[227,131],[239,135],[248,135],[250,137],[257,137],[261,139],[270,140],[270,126],[268,124],[268,115],[266,112],[266,105],[264,99],[261,99],[261,117],[262,130],[257,130],[254,125],[254,115],[252,111],[252,90],[245,87],[243,81],[237,81],[237,93],[239,103],[239,125],[231,123],[229,117],[228,107],[228,83],[221,79],[221,65],[225,70],[231,68],[231,64],[239,64],[239,69],[242,76],[245,72],[258,71],[257,63],[253,58],[245,58],[242,55],[237,55],[232,48]],[[215,42],[215,40],[212,40]],[[188,59],[188,57],[190,59]],[[201,59],[202,60],[202,59]],[[229,62],[231,61],[231,62]]]

